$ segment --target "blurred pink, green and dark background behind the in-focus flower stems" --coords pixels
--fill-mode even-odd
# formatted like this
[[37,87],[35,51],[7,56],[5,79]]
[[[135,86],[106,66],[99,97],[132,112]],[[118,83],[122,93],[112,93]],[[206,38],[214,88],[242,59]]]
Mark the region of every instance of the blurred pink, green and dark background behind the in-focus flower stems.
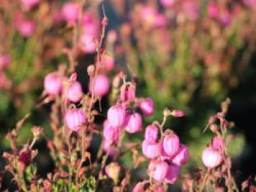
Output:
[[[80,15],[79,5],[83,5]],[[104,43],[110,55],[105,61],[109,77],[122,70],[138,83],[138,96],[154,99],[154,115],[144,119],[143,127],[162,120],[166,107],[186,112],[185,118],[170,119],[166,126],[189,145],[186,172],[199,166],[203,147],[212,138],[203,129],[230,97],[227,119],[236,125],[230,144],[238,170],[235,177],[241,182],[255,174],[255,0],[1,0],[0,155],[10,145],[4,135],[29,112],[31,117],[18,136],[20,144],[31,139],[33,125],[44,127],[50,136],[50,104],[40,108],[37,104],[45,75],[59,66],[70,69],[75,17],[80,18],[82,31],[76,37],[75,71],[87,92],[86,69],[94,64],[91,42],[99,37],[102,5],[109,20]],[[103,98],[103,116],[111,102],[110,96]],[[45,175],[53,161],[45,141],[37,145],[39,171]],[[129,166],[129,158],[124,164]],[[0,165],[4,169],[3,160]]]

